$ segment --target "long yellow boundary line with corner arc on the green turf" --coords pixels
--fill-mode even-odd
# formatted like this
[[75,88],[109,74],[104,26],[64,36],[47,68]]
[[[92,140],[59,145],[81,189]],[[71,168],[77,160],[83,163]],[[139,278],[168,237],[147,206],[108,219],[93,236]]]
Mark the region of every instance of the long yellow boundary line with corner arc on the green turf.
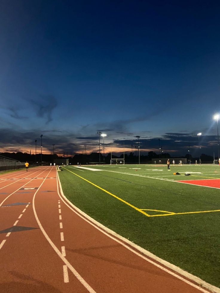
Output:
[[[139,211],[141,214],[144,214],[145,216],[147,217],[161,217],[161,216],[173,216],[173,215],[183,215],[183,214],[199,214],[199,213],[210,213],[210,212],[217,212],[217,211],[220,211],[220,210],[212,210],[212,211],[192,211],[192,212],[183,212],[183,213],[174,213],[174,212],[169,212],[169,211],[162,211],[162,210],[152,210],[152,209],[144,209],[144,208],[137,208],[135,207],[134,205],[126,202],[125,200],[123,200],[122,198],[118,197],[117,195],[114,195],[112,194],[111,192],[105,190],[104,188],[101,188],[100,186],[92,183],[91,181],[83,178],[82,176],[64,168],[65,170],[69,171],[70,173],[76,175],[77,177],[80,177],[82,180],[85,180],[86,182],[90,183],[91,185],[99,188],[100,190],[106,192],[107,194],[117,198],[117,200],[120,200],[121,202],[125,203],[126,205],[129,205],[131,208],[134,208],[136,211]],[[165,213],[165,214],[158,214],[158,215],[149,215],[147,214],[146,212],[144,211],[158,211],[158,212],[161,212],[161,213]]]

